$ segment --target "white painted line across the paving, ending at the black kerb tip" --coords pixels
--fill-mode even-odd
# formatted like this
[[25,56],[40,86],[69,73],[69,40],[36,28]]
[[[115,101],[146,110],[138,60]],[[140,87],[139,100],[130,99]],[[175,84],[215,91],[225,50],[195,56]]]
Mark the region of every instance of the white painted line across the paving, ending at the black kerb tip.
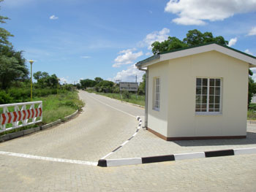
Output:
[[42,157],[37,155],[28,155],[23,153],[12,153],[12,152],[6,152],[6,151],[0,151],[0,155],[9,155],[9,156],[15,156],[15,157],[21,157],[21,158],[32,158],[32,159],[38,159],[38,160],[44,160],[44,161],[55,161],[55,162],[61,162],[61,163],[69,163],[69,164],[82,164],[82,165],[92,165],[97,166],[97,162],[91,162],[91,161],[79,161],[79,160],[71,160],[71,159],[65,159],[65,158],[50,158],[50,157]]

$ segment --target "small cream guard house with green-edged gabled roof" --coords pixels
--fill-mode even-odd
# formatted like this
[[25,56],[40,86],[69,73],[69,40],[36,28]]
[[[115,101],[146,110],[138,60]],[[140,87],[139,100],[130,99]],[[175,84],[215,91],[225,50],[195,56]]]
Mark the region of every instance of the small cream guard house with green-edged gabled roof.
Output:
[[146,128],[165,140],[246,138],[255,65],[254,56],[216,43],[138,62],[146,71]]

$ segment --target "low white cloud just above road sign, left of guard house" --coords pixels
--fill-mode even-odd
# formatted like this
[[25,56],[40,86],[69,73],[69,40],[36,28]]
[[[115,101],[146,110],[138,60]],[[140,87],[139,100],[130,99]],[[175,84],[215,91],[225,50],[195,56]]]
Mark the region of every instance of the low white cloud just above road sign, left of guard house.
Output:
[[116,77],[113,77],[113,81],[121,80],[124,82],[135,82],[137,75],[137,81],[142,82],[142,77],[144,73],[145,72],[138,70],[135,64],[133,64],[129,66],[127,70],[122,70],[121,72],[118,72],[116,74]]

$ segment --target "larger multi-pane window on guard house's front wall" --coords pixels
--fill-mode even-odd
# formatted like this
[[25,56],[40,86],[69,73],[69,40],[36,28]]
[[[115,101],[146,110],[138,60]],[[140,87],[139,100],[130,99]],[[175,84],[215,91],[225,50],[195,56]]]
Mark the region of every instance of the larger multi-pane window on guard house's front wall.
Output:
[[222,79],[197,78],[195,112],[197,114],[221,113]]

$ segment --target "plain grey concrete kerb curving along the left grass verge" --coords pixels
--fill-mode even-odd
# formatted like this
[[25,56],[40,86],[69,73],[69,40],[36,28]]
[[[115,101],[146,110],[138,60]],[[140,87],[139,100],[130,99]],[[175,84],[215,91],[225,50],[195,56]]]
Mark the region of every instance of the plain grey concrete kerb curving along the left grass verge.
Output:
[[[77,114],[78,114],[78,110],[76,110],[72,115],[69,115],[69,116],[65,117],[64,121],[73,118]],[[11,133],[11,134],[4,134],[4,135],[0,136],[0,142],[6,142],[6,141],[8,141],[10,139],[15,139],[15,138],[18,138],[18,137],[23,137],[25,135],[32,134],[34,132],[44,130],[46,128],[50,128],[52,126],[56,126],[57,124],[59,124],[61,122],[62,121],[59,119],[59,120],[56,120],[56,121],[54,121],[52,123],[48,123],[48,124],[46,124],[44,126],[29,128],[29,129],[22,130],[22,131],[17,131],[17,132]]]

